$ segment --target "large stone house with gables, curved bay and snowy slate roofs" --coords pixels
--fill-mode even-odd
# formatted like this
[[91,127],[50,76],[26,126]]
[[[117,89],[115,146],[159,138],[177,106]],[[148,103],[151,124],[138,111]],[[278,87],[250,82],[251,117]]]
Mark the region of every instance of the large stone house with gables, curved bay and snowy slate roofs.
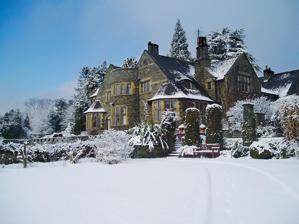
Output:
[[85,111],[86,131],[134,127],[153,115],[160,122],[163,111],[172,109],[184,119],[185,110],[198,108],[202,116],[208,104],[221,102],[222,94],[233,101],[262,96],[262,85],[244,53],[211,63],[206,38],[197,41],[195,62],[159,55],[159,46],[148,42],[136,68],[109,65],[101,86],[89,97]]

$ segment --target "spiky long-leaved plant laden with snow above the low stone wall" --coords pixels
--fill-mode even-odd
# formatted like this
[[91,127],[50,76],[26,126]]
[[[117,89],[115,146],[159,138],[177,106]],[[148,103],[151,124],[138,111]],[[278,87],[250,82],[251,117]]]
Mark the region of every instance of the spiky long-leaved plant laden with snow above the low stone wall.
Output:
[[153,121],[151,125],[147,124],[147,122],[142,122],[141,124],[138,124],[126,131],[126,133],[130,135],[130,146],[148,146],[150,152],[153,148],[155,148],[156,144],[161,144],[163,149],[168,149],[166,142],[166,132],[167,131],[162,128],[161,125],[154,124]]

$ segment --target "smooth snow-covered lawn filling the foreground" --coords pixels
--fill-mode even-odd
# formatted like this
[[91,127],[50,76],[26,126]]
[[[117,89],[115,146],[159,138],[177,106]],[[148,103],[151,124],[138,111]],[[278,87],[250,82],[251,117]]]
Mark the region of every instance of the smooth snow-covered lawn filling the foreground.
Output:
[[0,223],[298,223],[298,159],[0,168]]

